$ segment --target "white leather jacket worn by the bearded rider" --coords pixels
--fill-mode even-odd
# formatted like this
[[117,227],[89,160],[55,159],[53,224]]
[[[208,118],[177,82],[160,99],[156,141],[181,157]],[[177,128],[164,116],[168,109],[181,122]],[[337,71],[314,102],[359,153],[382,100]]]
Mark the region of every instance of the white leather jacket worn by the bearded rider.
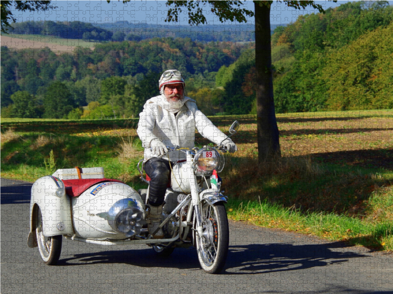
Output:
[[[166,146],[195,147],[195,129],[206,139],[215,144],[220,143],[227,136],[220,131],[198,108],[195,100],[185,97],[185,103],[176,116],[163,109],[159,100],[164,95],[150,98],[143,106],[137,128],[138,136],[144,149],[144,161],[154,157],[150,150],[150,142],[158,139]],[[230,139],[228,139],[230,140]],[[226,142],[226,141],[225,141]],[[184,159],[185,154],[179,151],[169,152],[169,160]],[[162,158],[168,159],[168,155]]]

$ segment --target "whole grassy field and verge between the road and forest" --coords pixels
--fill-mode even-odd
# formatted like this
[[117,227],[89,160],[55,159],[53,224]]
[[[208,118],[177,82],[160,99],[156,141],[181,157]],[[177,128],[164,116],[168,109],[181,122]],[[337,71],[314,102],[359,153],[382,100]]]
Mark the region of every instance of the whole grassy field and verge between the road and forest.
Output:
[[[231,219],[393,250],[393,110],[277,115],[282,158],[262,164],[254,116],[211,118],[223,131],[235,119],[239,151],[221,174]],[[143,187],[137,122],[2,119],[1,177],[100,166]]]

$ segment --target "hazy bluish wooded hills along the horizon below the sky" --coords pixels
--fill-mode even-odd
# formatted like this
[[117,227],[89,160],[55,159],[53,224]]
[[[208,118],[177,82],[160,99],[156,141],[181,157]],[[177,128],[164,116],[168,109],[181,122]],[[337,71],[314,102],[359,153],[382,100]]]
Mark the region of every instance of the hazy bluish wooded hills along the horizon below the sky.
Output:
[[[79,21],[53,22],[28,21],[12,25],[10,34],[37,34],[84,41],[141,41],[152,38],[190,38],[199,42],[250,42],[255,41],[254,25],[157,25],[119,21],[90,24]],[[272,34],[278,25],[272,25]],[[286,25],[283,25],[286,26]]]

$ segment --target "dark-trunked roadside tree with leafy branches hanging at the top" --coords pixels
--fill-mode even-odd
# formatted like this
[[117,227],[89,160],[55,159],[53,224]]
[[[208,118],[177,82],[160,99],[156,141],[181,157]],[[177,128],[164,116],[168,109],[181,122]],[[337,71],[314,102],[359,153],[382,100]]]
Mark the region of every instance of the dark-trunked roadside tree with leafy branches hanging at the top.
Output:
[[[281,2],[281,1],[279,1]],[[315,1],[284,0],[289,7],[304,9],[308,5],[324,12],[322,5]],[[334,0],[334,2],[337,2]],[[246,16],[255,17],[255,69],[256,69],[256,110],[257,141],[259,162],[281,156],[279,129],[273,97],[273,75],[270,35],[270,7],[273,1],[254,1],[254,12],[242,8],[242,1],[167,1],[167,22],[177,22],[182,9],[188,11],[190,25],[206,23],[204,12],[209,10],[219,17],[220,22],[247,22]],[[207,5],[206,5],[207,4]],[[203,11],[204,6],[210,6]],[[239,85],[241,87],[242,85]]]

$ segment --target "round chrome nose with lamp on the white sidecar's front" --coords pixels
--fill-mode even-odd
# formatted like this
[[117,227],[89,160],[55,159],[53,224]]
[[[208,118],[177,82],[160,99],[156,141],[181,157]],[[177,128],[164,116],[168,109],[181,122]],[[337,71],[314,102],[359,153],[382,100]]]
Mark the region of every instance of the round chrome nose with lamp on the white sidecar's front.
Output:
[[139,235],[144,221],[140,201],[131,198],[116,201],[108,212],[108,223],[113,230],[127,237]]

